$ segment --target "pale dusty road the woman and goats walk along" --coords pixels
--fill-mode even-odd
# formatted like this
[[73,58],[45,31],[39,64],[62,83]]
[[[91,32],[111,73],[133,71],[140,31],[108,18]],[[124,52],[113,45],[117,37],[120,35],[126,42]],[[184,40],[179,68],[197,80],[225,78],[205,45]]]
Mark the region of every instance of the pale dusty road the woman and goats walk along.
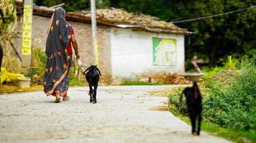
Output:
[[70,101],[52,103],[42,92],[0,95],[0,142],[228,142],[191,127],[167,111],[166,97],[150,91],[171,86],[99,87],[97,104],[88,88],[71,88]]

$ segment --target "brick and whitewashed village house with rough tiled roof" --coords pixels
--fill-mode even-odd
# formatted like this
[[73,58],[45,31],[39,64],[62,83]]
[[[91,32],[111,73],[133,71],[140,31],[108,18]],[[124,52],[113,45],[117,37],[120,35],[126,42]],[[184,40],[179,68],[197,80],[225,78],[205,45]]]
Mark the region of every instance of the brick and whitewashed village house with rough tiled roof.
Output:
[[[54,9],[33,6],[32,48],[45,49],[47,28]],[[18,6],[19,36],[14,44],[22,51],[22,6]],[[93,63],[91,12],[76,11],[66,14],[73,26],[81,61]],[[96,11],[99,41],[99,68],[103,81],[109,84],[122,79],[145,79],[152,75],[183,73],[185,62],[184,35],[172,23],[144,14],[132,14],[123,9]]]

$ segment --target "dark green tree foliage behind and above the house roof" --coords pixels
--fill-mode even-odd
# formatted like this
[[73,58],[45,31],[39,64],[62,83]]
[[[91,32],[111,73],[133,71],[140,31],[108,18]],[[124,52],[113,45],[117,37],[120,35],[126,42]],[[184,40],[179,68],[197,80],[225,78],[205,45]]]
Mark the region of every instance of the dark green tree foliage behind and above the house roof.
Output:
[[[39,5],[52,6],[65,2],[67,11],[88,10],[89,0],[36,0]],[[255,6],[255,0],[104,0],[98,8],[123,8],[129,12],[156,16],[165,21],[193,19]],[[193,31],[186,42],[186,59],[194,55],[218,64],[230,54],[252,56],[256,53],[256,9],[234,14],[178,23]]]

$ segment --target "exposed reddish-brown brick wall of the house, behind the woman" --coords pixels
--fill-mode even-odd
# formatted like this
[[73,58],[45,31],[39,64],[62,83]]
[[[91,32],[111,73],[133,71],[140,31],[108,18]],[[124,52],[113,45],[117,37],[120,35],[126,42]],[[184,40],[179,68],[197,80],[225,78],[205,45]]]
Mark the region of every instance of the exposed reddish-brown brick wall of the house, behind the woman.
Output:
[[[22,52],[22,18],[18,19],[18,36],[14,41],[14,45],[19,51]],[[32,47],[40,48],[45,51],[45,43],[47,39],[47,28],[50,18],[44,16],[33,15],[32,24]],[[78,50],[80,51],[81,61],[86,66],[93,64],[93,51],[91,41],[91,24],[86,24],[77,21],[68,21],[73,26],[75,31],[76,40],[78,41]],[[99,40],[99,68],[101,73],[104,74],[103,81],[109,83],[111,80],[111,61],[110,61],[110,42],[108,26],[97,26],[98,40]],[[110,78],[110,79],[109,79]]]

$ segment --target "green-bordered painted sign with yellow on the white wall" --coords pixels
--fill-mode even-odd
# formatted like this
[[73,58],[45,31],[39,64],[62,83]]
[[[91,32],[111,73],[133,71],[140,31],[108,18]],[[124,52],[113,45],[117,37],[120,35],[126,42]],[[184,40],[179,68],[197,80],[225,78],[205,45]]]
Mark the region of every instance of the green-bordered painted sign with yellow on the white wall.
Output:
[[177,46],[175,39],[153,38],[153,64],[171,66],[177,64]]

